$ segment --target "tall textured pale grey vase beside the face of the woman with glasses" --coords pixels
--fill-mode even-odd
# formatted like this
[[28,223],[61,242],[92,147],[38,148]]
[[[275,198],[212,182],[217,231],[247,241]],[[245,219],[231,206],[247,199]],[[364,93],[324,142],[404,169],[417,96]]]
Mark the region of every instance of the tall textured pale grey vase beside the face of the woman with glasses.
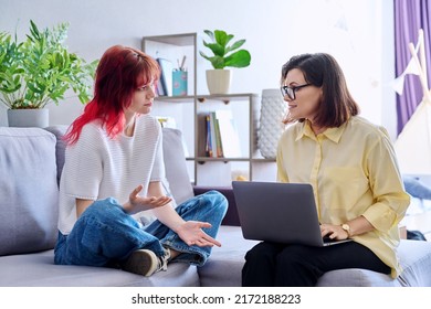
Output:
[[261,120],[257,131],[257,147],[266,159],[276,157],[277,143],[285,129],[283,118],[287,105],[283,100],[280,89],[263,89],[261,104]]

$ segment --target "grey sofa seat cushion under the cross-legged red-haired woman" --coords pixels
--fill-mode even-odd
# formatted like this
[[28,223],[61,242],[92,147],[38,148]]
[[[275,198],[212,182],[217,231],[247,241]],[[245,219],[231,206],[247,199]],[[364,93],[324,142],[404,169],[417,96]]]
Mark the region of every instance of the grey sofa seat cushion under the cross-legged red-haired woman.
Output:
[[0,258],[0,287],[196,287],[196,266],[171,263],[150,277],[106,267],[54,265],[46,251]]

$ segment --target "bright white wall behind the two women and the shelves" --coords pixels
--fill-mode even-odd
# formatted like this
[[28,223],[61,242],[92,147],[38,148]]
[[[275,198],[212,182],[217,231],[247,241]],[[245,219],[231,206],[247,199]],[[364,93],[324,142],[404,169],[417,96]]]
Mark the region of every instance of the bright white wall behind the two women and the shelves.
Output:
[[[140,47],[146,35],[222,29],[246,39],[250,67],[234,70],[233,93],[278,87],[280,68],[292,55],[329,52],[337,57],[362,116],[395,131],[391,0],[0,0],[0,31],[19,38],[29,20],[41,28],[70,22],[67,45],[87,61],[114,44]],[[312,9],[313,8],[313,9]],[[199,58],[198,70],[209,67]],[[204,81],[198,92],[206,94]],[[385,100],[385,103],[383,103]],[[50,105],[50,121],[70,124],[77,98]],[[385,110],[385,113],[382,113]],[[387,116],[387,111],[389,114]],[[389,118],[388,118],[389,117]],[[0,126],[7,125],[0,108]],[[393,128],[392,128],[393,126]]]

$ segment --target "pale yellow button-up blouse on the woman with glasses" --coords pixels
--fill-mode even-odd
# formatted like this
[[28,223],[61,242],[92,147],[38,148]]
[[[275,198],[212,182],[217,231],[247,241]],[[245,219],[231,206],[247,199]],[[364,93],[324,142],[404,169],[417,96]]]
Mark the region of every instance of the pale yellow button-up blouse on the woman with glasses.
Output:
[[343,224],[365,216],[374,231],[354,236],[401,273],[398,223],[410,203],[388,132],[361,117],[315,136],[308,121],[288,127],[277,149],[277,180],[311,183],[319,220]]

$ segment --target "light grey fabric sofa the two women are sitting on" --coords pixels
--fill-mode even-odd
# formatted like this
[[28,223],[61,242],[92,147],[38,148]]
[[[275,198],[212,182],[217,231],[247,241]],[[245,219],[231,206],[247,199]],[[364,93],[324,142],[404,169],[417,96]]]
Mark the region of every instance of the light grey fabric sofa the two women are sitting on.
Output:
[[[64,162],[61,136],[65,127],[0,127],[0,286],[240,286],[244,254],[255,242],[241,234],[229,188],[218,188],[230,206],[203,267],[169,264],[167,271],[141,277],[118,269],[59,266],[53,263],[56,239],[57,181]],[[212,188],[193,188],[181,156],[181,134],[164,129],[164,156],[170,190],[178,202]],[[85,160],[85,158],[83,158]],[[403,274],[389,276],[362,269],[325,274],[318,286],[431,286],[431,244],[402,241]]]

